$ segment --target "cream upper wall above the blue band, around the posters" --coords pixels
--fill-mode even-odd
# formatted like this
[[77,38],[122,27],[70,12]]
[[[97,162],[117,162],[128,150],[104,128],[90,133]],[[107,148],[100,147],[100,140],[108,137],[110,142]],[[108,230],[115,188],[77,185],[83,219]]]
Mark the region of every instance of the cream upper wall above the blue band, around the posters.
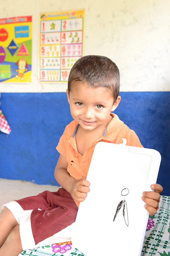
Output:
[[169,0],[0,0],[0,18],[33,15],[33,82],[0,83],[0,92],[59,92],[38,81],[39,14],[84,9],[84,55],[111,58],[121,91],[170,91]]

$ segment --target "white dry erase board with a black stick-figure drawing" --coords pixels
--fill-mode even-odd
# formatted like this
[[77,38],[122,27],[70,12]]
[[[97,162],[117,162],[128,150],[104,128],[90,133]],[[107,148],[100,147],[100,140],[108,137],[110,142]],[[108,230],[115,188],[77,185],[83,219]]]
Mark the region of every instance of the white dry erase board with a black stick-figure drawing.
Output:
[[78,250],[86,256],[141,255],[149,217],[141,197],[152,191],[160,160],[153,149],[97,143],[87,174],[90,192],[73,229]]

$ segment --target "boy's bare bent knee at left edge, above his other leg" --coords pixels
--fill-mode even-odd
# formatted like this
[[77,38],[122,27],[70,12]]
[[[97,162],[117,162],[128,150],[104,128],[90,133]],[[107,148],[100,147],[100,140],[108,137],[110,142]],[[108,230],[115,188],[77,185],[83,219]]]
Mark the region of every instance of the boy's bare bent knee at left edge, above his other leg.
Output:
[[0,213],[0,248],[18,223],[11,211],[4,207]]

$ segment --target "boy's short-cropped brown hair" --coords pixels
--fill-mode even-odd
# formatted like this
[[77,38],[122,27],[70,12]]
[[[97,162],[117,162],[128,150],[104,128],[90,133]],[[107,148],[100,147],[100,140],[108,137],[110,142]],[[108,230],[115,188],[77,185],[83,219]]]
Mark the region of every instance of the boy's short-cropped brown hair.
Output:
[[68,92],[74,82],[87,82],[92,87],[106,87],[112,91],[114,102],[119,96],[120,73],[117,65],[109,58],[87,55],[73,65],[68,78]]

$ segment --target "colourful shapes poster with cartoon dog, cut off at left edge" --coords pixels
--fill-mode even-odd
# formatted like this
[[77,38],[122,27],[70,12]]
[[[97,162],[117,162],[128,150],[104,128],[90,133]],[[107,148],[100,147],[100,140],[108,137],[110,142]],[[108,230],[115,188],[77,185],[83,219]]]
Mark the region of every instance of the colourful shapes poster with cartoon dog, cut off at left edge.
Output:
[[0,19],[0,82],[32,81],[32,16]]

